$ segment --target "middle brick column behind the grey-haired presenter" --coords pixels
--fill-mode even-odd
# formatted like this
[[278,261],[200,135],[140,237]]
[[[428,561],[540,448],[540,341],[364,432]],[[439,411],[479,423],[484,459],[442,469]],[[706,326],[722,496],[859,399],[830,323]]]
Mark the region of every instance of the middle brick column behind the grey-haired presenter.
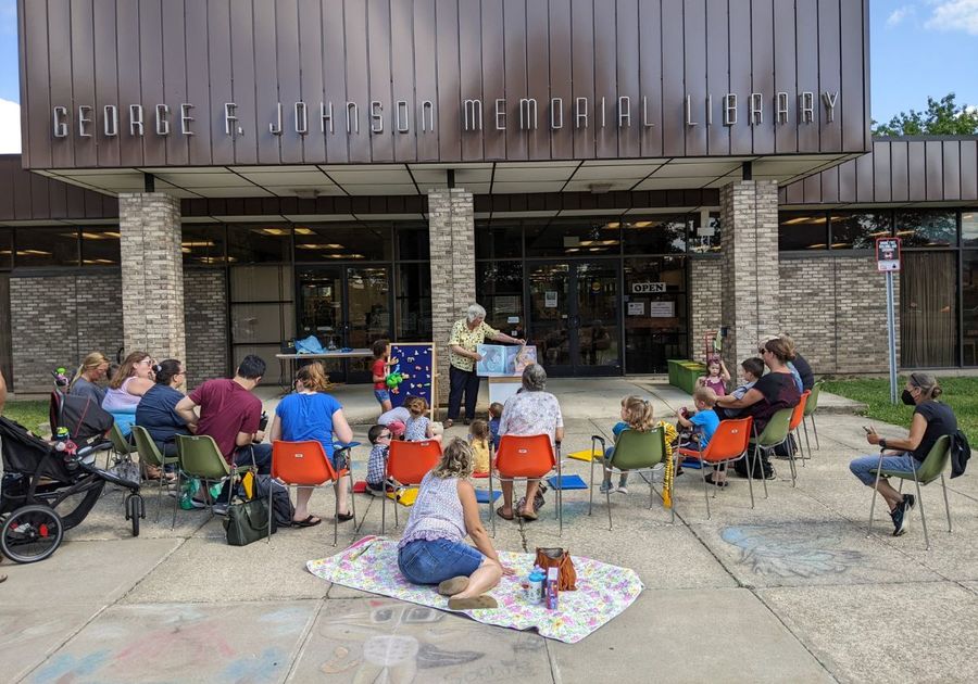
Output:
[[475,221],[472,193],[428,191],[431,245],[431,334],[438,356],[438,403],[448,401],[452,325],[475,303]]

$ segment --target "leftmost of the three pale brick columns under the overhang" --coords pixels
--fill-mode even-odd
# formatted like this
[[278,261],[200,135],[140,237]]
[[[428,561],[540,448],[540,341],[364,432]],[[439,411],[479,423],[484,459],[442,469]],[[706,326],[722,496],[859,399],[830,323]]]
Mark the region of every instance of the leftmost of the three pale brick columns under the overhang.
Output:
[[180,201],[162,192],[118,195],[126,353],[186,360]]

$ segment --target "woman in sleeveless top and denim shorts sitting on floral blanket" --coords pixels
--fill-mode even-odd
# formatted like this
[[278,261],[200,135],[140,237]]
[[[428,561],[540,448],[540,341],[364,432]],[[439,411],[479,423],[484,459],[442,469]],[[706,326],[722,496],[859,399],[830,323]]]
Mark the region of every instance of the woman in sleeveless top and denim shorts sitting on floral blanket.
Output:
[[[459,438],[422,480],[404,535],[398,544],[398,568],[412,584],[437,584],[449,609],[497,608],[486,592],[499,584],[504,568],[479,520],[472,474],[472,447]],[[475,548],[464,544],[471,536]],[[477,550],[478,549],[478,550]]]

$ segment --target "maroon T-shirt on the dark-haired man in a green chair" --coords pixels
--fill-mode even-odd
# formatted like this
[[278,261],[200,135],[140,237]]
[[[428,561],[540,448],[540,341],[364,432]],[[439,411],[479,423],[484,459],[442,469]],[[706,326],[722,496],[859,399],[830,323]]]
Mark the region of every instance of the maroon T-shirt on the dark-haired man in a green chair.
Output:
[[190,392],[190,400],[200,406],[197,434],[208,434],[227,463],[233,463],[238,448],[239,432],[256,432],[262,418],[262,402],[234,380],[208,380]]

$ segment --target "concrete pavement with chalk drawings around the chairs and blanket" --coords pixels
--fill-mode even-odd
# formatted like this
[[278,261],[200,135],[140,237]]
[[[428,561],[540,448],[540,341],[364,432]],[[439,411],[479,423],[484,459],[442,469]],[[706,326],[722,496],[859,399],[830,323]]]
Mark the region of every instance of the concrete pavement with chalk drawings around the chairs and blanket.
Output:
[[[601,380],[575,396],[561,383],[551,389],[568,416],[567,451],[587,447],[592,433],[609,434],[619,397],[642,387]],[[650,393],[663,406],[681,398],[659,385]],[[168,497],[156,522],[150,489],[142,533],[133,539],[121,494],[110,491],[50,559],[0,567],[10,574],[0,585],[0,679],[974,681],[978,478],[949,481],[953,534],[939,485],[925,487],[931,550],[924,549],[919,508],[902,537],[889,535],[889,519],[878,510],[867,537],[869,491],[847,468],[869,453],[863,422],[820,416],[820,449],[799,466],[798,486],[787,461],[776,461],[769,497],[757,482],[753,509],[747,481],[732,479],[711,499],[707,518],[702,482],[687,470],[676,483],[675,522],[657,497],[649,509],[639,478],[629,494],[612,495],[611,532],[604,498],[595,496],[589,516],[586,491],[565,495],[563,537],[549,495],[538,522],[498,520],[499,548],[563,545],[642,578],[647,590],[636,604],[575,645],[330,585],[306,572],[305,561],[379,532],[379,502],[372,497],[358,496],[359,522],[341,527],[337,548],[327,493],[313,498],[313,510],[326,518],[322,525],[238,548],[225,544],[220,519],[204,511],[177,511],[171,531]],[[358,438],[365,428],[356,427]],[[464,428],[449,434],[463,435]],[[366,454],[355,456],[359,477]],[[568,460],[566,470],[588,480],[587,464]],[[406,509],[401,512],[403,524]]]

